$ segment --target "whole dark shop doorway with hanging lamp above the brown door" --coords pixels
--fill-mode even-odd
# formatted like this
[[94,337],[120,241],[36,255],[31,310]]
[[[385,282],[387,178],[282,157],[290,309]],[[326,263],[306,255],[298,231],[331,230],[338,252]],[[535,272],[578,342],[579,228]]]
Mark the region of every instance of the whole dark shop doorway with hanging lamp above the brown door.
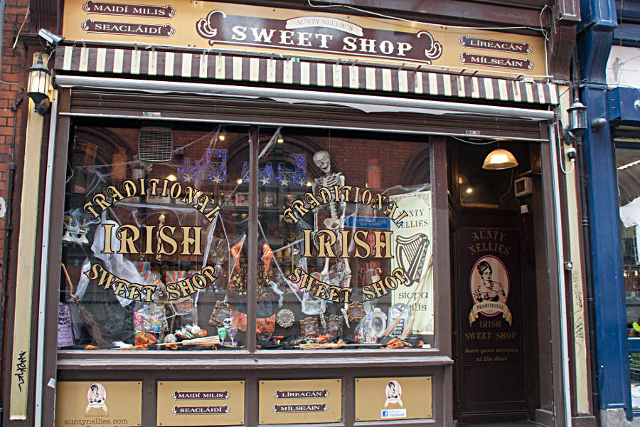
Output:
[[502,142],[499,148],[517,164],[484,169],[497,142],[456,138],[447,146],[454,418],[533,419],[540,407],[537,289],[543,277],[536,248],[544,247],[544,233],[533,233],[544,229],[535,227],[543,218],[539,148]]

